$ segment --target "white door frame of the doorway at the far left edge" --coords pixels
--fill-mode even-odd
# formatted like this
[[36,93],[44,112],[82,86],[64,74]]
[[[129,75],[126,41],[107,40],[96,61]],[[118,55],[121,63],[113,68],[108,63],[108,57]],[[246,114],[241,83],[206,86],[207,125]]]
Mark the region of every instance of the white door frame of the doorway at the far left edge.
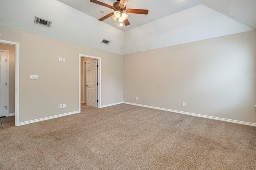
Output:
[[15,126],[17,127],[20,125],[20,43],[6,40],[0,40],[0,43],[15,45]]

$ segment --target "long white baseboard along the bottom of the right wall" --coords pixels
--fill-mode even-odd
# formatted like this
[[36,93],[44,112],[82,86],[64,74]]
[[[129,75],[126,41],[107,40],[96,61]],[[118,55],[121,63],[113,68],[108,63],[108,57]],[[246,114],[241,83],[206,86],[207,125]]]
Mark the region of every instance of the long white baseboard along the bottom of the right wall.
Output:
[[220,118],[220,117],[206,116],[206,115],[200,115],[200,114],[196,114],[196,113],[189,113],[189,112],[183,112],[183,111],[175,111],[175,110],[171,110],[171,109],[164,109],[164,108],[160,108],[160,107],[153,107],[153,106],[147,106],[147,105],[140,105],[140,104],[136,104],[136,103],[129,103],[129,102],[123,102],[123,103],[128,104],[128,105],[135,105],[135,106],[141,106],[141,107],[148,107],[148,108],[151,108],[151,109],[158,109],[158,110],[162,110],[162,111],[169,111],[169,112],[174,112],[174,113],[181,113],[181,114],[185,114],[185,115],[191,115],[191,116],[196,116],[196,117],[203,117],[203,118],[214,119],[214,120],[218,120],[218,121],[225,121],[225,122],[231,122],[231,123],[238,123],[238,124],[242,124],[242,125],[249,125],[249,126],[254,126],[254,127],[256,127],[256,124],[255,124],[255,123],[250,123],[250,122],[236,121],[236,120],[232,120],[232,119],[225,119],[225,118]]

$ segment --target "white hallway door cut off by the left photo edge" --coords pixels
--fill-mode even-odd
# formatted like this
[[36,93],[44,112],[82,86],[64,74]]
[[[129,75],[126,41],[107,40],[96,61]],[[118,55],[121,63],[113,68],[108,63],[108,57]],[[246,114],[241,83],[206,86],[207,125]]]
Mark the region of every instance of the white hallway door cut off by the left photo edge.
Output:
[[6,54],[0,50],[0,117],[6,116]]

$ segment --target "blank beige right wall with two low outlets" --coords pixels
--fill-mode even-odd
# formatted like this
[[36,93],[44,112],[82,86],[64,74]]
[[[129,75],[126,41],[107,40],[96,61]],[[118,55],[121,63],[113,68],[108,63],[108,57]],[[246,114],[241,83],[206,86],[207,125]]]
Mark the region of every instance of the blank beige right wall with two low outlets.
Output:
[[256,122],[256,31],[124,55],[123,63],[125,102]]

